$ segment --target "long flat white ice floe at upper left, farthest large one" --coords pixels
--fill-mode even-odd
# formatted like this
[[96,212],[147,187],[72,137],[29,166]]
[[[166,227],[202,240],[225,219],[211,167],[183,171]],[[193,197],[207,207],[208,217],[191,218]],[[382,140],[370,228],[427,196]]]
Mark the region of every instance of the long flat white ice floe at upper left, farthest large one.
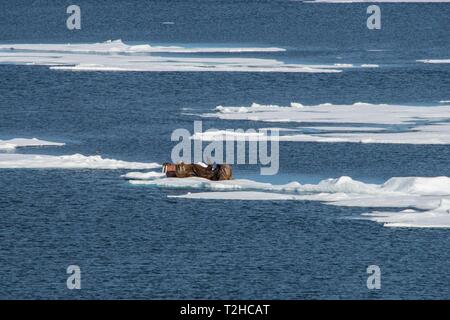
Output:
[[251,57],[158,56],[158,53],[277,52],[282,48],[225,48],[127,45],[120,40],[91,44],[0,45],[0,63],[44,65],[69,71],[142,72],[311,72],[336,73],[334,65],[286,64],[276,59]]

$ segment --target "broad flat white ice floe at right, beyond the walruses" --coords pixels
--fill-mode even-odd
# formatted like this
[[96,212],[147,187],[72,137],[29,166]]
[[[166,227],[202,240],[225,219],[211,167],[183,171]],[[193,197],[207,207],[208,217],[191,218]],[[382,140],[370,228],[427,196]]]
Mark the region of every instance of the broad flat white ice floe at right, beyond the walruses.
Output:
[[[406,144],[450,144],[450,106],[407,106],[388,104],[355,103],[336,105],[324,103],[305,106],[291,103],[290,106],[261,105],[228,107],[218,106],[215,113],[203,117],[222,120],[248,120],[262,122],[293,122],[308,124],[298,129],[314,129],[310,124],[334,124],[322,127],[320,132],[283,134],[276,139],[298,142],[353,142],[353,143],[406,143]],[[368,128],[376,125],[377,130]],[[382,127],[384,126],[384,130]],[[291,129],[292,130],[292,129]],[[219,132],[220,133],[220,132]],[[207,134],[207,139],[219,139],[219,134]],[[269,137],[270,139],[270,137]]]

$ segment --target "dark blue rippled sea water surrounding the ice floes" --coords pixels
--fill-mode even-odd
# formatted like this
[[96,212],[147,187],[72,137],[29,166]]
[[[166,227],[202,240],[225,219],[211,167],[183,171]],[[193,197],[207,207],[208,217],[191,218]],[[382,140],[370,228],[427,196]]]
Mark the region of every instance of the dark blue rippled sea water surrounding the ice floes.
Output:
[[[449,4],[382,4],[382,29],[370,31],[364,4],[80,0],[82,30],[76,32],[65,27],[69,4],[1,1],[0,42],[121,38],[280,46],[288,51],[259,55],[383,66],[285,74],[62,72],[0,65],[0,139],[66,142],[21,153],[162,163],[170,160],[172,131],[192,130],[196,114],[217,105],[450,100],[450,66],[415,63],[449,58]],[[204,126],[255,123],[208,118]],[[270,178],[275,182],[450,176],[445,145],[286,142],[280,156],[280,173]],[[0,298],[450,298],[448,230],[391,229],[347,219],[370,208],[168,198],[191,190],[131,186],[120,178],[125,172],[0,170]],[[235,168],[236,177],[258,173],[255,166]],[[81,290],[66,287],[71,264],[81,267]],[[372,264],[381,267],[381,290],[366,287]]]

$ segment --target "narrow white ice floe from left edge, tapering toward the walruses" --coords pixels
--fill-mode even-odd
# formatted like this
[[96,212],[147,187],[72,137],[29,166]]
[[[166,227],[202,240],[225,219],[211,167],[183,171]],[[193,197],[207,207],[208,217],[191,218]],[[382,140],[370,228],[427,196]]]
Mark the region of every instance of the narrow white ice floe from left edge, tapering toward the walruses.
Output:
[[154,169],[157,163],[127,162],[81,154],[0,154],[0,169]]

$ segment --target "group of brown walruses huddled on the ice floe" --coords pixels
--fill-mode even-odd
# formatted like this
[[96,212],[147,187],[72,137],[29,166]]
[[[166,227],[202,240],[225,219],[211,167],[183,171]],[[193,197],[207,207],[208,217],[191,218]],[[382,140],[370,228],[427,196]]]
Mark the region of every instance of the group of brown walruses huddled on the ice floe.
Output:
[[188,164],[188,163],[164,163],[163,172],[170,178],[200,177],[212,181],[231,180],[233,170],[228,164]]

